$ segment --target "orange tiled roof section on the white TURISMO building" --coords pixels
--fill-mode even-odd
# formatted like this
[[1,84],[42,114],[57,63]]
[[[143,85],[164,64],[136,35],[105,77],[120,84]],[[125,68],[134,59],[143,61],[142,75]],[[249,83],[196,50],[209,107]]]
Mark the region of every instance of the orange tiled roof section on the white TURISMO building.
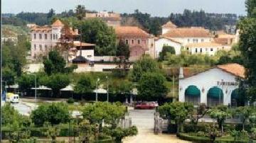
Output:
[[234,74],[235,76],[245,78],[245,67],[242,67],[240,64],[223,64],[218,65],[217,67],[229,72],[230,74]]

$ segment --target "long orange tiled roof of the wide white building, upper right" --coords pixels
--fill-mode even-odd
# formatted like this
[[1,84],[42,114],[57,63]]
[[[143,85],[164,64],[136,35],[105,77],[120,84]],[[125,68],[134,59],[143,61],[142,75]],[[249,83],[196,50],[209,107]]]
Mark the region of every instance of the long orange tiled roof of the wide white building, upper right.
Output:
[[171,28],[165,37],[169,38],[210,38],[211,35],[205,28]]

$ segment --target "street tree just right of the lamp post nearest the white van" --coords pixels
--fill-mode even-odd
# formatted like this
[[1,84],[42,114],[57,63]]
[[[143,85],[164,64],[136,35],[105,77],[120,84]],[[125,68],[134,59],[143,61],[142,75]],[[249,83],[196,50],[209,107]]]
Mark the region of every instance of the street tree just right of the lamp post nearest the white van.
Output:
[[60,89],[65,88],[70,84],[70,78],[67,74],[53,74],[51,76],[43,76],[41,84],[53,90],[54,96],[60,95]]

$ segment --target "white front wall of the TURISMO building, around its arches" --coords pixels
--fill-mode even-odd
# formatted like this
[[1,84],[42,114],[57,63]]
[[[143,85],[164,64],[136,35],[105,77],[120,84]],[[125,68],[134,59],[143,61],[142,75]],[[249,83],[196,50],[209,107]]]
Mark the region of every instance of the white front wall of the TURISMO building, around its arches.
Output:
[[[218,81],[237,82],[233,74],[229,74],[218,68],[209,69],[195,76],[186,79],[180,79],[178,85],[178,101],[185,102],[185,90],[188,86],[197,86],[201,91],[201,103],[207,104],[207,93],[213,86],[218,86]],[[223,90],[223,104],[228,105],[231,103],[231,93],[238,86],[218,86]],[[204,92],[202,89],[204,88]],[[227,91],[227,92],[226,92]]]

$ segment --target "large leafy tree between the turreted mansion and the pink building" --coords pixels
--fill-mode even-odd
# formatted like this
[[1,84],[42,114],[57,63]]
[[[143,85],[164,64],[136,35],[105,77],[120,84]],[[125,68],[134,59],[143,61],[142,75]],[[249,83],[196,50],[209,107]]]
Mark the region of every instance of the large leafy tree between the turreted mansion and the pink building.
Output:
[[95,43],[95,55],[116,55],[116,35],[112,27],[99,18],[82,21],[82,41]]

